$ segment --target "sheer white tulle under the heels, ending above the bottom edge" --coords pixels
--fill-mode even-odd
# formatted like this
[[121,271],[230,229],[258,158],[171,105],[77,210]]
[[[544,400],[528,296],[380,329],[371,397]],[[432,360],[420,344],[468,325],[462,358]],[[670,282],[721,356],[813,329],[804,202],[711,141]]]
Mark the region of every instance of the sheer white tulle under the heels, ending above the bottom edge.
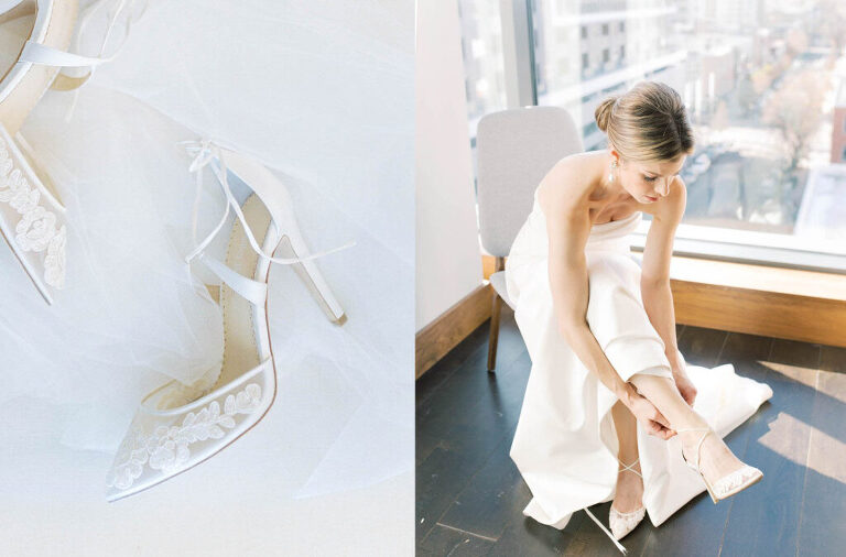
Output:
[[[100,481],[85,492],[101,499],[142,396],[220,367],[220,309],[203,285],[216,280],[184,262],[195,177],[180,142],[212,138],[282,178],[312,251],[356,242],[317,260],[343,327],[292,269],[270,274],[270,412],[285,424],[273,440],[284,476],[274,496],[409,472],[413,2],[151,1],[143,13],[130,3],[115,59],[77,94],[48,91],[22,129],[67,207],[67,272],[47,306],[0,249],[0,444],[50,435],[70,455],[96,451]],[[105,13],[90,19],[82,53],[98,52]],[[225,208],[206,172],[203,236]],[[2,462],[17,478],[0,485],[8,495],[26,482]],[[51,466],[67,477],[77,462]]]

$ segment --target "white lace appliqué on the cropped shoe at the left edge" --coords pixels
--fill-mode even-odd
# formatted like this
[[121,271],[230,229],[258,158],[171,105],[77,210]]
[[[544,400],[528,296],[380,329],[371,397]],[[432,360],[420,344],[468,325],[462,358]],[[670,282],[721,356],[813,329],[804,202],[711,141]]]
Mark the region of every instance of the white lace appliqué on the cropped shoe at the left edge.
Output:
[[0,201],[21,215],[14,240],[22,251],[46,250],[44,282],[56,288],[65,285],[65,226],[56,229],[56,215],[39,205],[41,192],[33,188],[23,171],[14,165],[6,141],[0,138]]

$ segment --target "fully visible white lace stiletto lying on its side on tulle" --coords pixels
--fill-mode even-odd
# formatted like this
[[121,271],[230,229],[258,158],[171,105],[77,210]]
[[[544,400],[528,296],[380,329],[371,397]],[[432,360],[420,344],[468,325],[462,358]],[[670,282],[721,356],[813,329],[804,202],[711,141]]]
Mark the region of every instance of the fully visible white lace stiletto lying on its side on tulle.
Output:
[[[202,187],[202,168],[210,164],[227,198],[224,218],[186,258],[202,261],[221,281],[224,358],[216,376],[192,385],[174,380],[141,402],[107,474],[108,501],[132,495],[198,465],[231,445],[270,409],[276,392],[275,367],[267,315],[271,263],[295,264],[318,305],[336,324],[345,321],[340,304],[312,259],[347,248],[307,255],[291,200],[282,184],[260,163],[214,143],[195,144],[192,171]],[[239,203],[229,188],[237,177],[250,189]],[[196,222],[197,205],[195,204]],[[234,210],[226,263],[205,253]],[[258,244],[253,232],[262,238]],[[278,258],[278,253],[292,254]]]

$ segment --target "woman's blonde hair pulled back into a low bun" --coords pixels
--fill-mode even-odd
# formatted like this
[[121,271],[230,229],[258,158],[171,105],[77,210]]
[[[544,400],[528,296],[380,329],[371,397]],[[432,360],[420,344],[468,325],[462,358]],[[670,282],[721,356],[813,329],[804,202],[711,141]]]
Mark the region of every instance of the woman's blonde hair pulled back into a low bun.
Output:
[[640,81],[605,99],[594,112],[608,146],[625,161],[672,161],[693,154],[695,141],[682,97],[669,85]]

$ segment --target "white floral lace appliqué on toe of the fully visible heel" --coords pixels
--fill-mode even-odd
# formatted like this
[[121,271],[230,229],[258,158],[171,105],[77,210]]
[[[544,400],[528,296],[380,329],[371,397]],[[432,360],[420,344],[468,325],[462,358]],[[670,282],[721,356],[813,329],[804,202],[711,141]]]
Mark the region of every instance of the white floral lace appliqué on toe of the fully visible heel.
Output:
[[237,414],[250,414],[260,403],[261,387],[250,383],[226,397],[223,414],[220,404],[214,401],[196,414],[188,413],[181,426],[159,426],[150,435],[135,427],[121,444],[116,459],[119,463],[112,468],[106,484],[128,489],[141,476],[145,465],[163,473],[178,471],[191,457],[189,445],[224,437],[224,429],[235,427]]

